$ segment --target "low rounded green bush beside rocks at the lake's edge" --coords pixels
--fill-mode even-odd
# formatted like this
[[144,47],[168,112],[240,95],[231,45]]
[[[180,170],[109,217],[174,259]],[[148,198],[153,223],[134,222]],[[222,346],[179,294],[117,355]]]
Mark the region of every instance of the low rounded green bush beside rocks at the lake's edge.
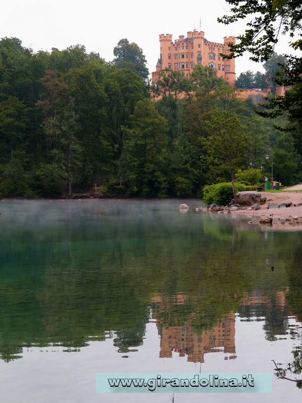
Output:
[[[246,190],[243,183],[235,183],[237,192]],[[205,185],[202,189],[202,199],[206,205],[215,203],[225,206],[234,198],[233,187],[231,182],[215,183],[213,185]]]

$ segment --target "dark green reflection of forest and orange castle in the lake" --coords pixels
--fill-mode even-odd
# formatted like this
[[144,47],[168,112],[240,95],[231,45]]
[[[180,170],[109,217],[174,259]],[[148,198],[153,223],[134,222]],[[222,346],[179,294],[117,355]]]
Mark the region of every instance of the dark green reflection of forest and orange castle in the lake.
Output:
[[[242,219],[180,215],[168,205],[160,211],[160,204],[126,212],[94,204],[85,215],[80,204],[61,203],[61,210],[58,204],[53,210],[41,204],[40,214],[35,205],[22,216],[10,204],[12,212],[2,216],[4,360],[20,358],[27,346],[79,349],[107,338],[120,353],[134,351],[151,310],[161,335],[174,334],[171,347],[162,342],[163,354],[194,352],[192,361],[201,361],[206,348],[235,352],[235,343],[222,338],[232,312],[240,320],[263,320],[268,340],[286,334],[288,315],[301,320],[300,233],[272,238],[267,230],[264,238]],[[265,264],[272,255],[274,272]]]

